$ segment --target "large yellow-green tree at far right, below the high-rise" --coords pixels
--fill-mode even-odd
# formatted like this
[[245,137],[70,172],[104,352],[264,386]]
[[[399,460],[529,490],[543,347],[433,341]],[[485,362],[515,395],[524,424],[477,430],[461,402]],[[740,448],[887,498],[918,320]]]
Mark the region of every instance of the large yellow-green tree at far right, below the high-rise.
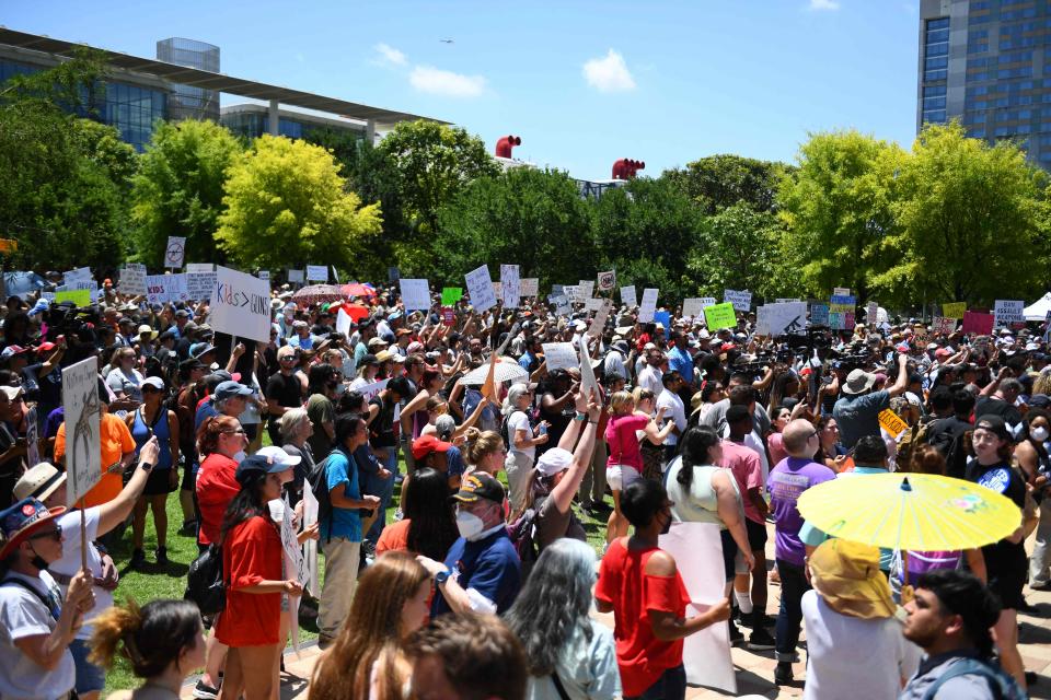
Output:
[[1047,289],[1047,175],[1016,144],[928,126],[901,160],[880,299],[908,304],[1031,299]]

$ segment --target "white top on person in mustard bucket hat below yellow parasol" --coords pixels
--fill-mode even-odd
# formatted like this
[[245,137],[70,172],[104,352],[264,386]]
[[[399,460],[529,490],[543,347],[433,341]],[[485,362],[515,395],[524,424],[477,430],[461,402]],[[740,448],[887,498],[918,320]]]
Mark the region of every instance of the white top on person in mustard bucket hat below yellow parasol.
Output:
[[905,640],[896,618],[863,620],[841,615],[816,591],[807,591],[802,621],[808,652],[805,700],[894,700],[901,679],[911,678],[920,665],[920,648]]

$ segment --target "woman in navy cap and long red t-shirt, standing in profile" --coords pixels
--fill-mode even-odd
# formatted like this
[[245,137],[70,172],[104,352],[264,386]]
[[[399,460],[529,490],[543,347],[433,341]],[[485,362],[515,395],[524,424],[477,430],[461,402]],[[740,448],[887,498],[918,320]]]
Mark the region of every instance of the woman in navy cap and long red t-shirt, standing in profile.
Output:
[[220,700],[270,700],[280,653],[281,594],[299,596],[303,586],[284,579],[281,536],[270,518],[269,501],[281,498],[281,471],[289,464],[262,455],[238,465],[241,485],[222,518],[222,572],[227,607],[216,622],[216,639],[229,649]]

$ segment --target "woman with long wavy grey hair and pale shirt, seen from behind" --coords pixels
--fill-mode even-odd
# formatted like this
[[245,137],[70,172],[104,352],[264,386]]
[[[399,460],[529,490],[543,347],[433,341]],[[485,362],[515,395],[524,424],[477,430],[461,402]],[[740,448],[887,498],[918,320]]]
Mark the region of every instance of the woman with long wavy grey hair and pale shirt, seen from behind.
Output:
[[529,698],[621,697],[613,634],[589,615],[594,563],[586,542],[555,540],[504,614],[529,663]]

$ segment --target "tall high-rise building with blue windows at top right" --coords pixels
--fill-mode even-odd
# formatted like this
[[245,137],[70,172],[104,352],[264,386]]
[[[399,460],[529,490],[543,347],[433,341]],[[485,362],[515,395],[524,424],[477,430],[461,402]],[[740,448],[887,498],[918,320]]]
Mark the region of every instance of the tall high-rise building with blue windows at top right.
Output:
[[1051,2],[921,0],[916,129],[958,119],[1051,168]]

